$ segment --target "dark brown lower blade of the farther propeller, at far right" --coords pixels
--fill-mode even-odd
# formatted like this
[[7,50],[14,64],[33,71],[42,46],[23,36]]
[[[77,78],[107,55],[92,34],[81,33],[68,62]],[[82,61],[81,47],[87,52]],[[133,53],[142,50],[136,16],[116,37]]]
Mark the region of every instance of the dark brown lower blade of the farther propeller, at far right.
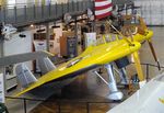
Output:
[[154,46],[153,46],[153,44],[152,44],[151,41],[148,41],[148,43],[149,43],[150,49],[151,49],[151,52],[152,52],[152,55],[153,55],[153,57],[154,57],[154,60],[157,63],[157,68],[159,68],[159,70],[161,70],[161,66],[160,66],[160,63],[159,63],[159,60],[157,60]]

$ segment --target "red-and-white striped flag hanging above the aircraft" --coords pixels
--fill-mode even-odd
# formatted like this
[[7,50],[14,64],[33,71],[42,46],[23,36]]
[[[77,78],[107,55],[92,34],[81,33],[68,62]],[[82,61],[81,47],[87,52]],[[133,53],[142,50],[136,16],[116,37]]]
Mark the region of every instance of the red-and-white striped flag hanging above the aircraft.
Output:
[[95,19],[103,19],[112,14],[112,0],[95,0]]

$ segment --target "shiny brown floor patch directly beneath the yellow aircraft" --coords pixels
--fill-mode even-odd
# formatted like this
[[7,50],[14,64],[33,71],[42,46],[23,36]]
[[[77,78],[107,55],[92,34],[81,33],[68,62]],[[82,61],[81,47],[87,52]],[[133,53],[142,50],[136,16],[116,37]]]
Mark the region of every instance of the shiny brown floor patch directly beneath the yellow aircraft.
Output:
[[51,95],[30,113],[105,113],[119,103],[109,101],[107,94],[108,87],[99,78],[83,75],[63,88],[60,95]]

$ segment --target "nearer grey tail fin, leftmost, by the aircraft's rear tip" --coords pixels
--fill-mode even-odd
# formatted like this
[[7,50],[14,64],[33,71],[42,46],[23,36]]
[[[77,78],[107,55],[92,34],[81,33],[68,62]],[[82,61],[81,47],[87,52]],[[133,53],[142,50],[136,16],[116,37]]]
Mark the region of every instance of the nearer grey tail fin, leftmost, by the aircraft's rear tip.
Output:
[[25,64],[19,64],[15,67],[15,72],[17,75],[17,79],[22,87],[26,88],[28,84],[36,82],[37,79],[31,72],[31,70],[26,67]]

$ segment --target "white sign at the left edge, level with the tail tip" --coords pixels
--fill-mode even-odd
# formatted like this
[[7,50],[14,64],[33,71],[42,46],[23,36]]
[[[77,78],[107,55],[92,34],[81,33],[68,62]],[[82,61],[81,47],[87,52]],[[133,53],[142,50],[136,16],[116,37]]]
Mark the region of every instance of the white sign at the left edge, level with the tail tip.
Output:
[[4,79],[3,74],[0,74],[0,102],[4,103]]

